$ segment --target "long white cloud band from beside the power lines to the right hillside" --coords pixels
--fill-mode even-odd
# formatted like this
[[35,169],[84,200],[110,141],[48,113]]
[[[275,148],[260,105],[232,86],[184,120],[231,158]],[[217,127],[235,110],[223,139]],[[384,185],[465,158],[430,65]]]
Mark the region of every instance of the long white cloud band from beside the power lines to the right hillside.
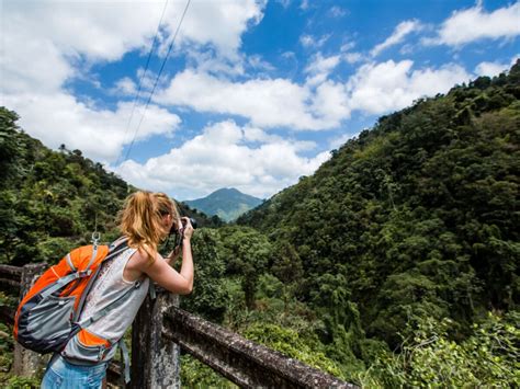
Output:
[[230,81],[186,69],[155,99],[199,112],[242,116],[262,128],[320,130],[338,127],[352,111],[382,114],[400,110],[472,77],[454,64],[414,69],[411,60],[388,60],[365,64],[342,83],[328,79],[338,62],[338,56],[318,54],[306,68],[309,77],[304,84],[285,79]]

